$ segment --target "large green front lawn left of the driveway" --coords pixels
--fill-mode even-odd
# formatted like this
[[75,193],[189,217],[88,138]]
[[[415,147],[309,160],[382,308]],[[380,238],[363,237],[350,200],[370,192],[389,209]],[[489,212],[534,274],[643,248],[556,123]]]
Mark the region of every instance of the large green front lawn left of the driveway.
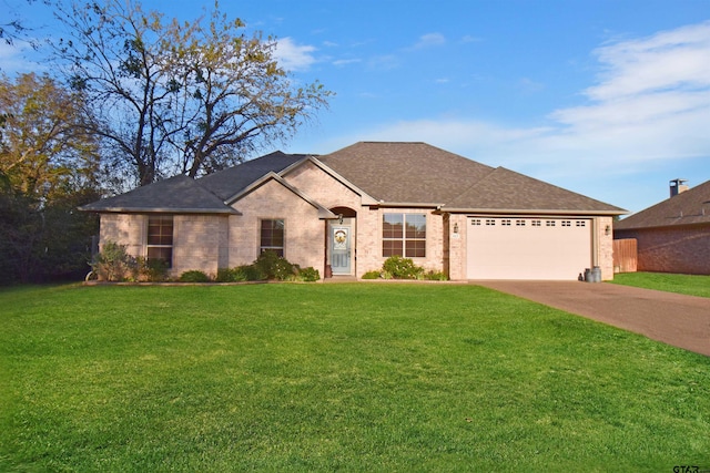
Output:
[[0,290],[0,471],[710,469],[710,358],[473,285]]

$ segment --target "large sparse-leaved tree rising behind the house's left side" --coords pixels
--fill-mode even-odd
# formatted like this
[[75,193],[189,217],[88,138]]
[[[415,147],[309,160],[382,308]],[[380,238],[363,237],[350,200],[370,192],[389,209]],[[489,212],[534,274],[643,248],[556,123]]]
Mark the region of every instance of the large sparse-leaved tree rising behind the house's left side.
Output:
[[274,39],[247,38],[216,3],[209,24],[165,22],[122,0],[58,11],[69,35],[55,52],[69,83],[89,99],[112,165],[141,185],[231,165],[327,106],[331,92],[296,88],[278,66]]

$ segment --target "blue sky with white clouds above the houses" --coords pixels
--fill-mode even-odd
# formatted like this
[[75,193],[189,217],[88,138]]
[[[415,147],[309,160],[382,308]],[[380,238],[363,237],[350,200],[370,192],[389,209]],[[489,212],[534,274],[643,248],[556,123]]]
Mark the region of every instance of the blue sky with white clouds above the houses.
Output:
[[[0,0],[52,31],[51,12]],[[211,1],[146,0],[194,19]],[[337,95],[284,152],[423,141],[641,210],[710,179],[710,0],[223,1]],[[7,71],[37,69],[21,44]]]

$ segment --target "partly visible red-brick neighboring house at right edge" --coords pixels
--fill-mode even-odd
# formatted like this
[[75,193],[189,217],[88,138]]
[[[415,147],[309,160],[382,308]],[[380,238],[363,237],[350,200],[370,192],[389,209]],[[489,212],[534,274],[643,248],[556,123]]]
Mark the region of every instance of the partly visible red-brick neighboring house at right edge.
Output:
[[710,181],[683,183],[671,181],[670,198],[613,225],[616,239],[637,240],[639,271],[710,275]]

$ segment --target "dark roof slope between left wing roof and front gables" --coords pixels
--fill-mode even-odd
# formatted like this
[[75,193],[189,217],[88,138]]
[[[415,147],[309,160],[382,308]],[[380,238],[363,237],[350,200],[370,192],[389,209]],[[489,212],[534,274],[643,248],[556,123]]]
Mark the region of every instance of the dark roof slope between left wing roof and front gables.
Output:
[[234,167],[210,174],[197,182],[223,200],[226,200],[260,177],[270,172],[280,173],[305,156],[304,154],[285,154],[276,151],[256,160],[246,161]]

